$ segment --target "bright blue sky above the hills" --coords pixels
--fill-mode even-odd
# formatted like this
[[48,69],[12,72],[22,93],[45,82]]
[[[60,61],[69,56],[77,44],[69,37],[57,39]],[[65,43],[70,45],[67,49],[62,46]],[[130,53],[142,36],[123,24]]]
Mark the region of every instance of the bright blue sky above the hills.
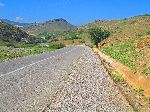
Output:
[[0,0],[0,18],[20,22],[64,18],[83,25],[141,14],[150,14],[150,0]]

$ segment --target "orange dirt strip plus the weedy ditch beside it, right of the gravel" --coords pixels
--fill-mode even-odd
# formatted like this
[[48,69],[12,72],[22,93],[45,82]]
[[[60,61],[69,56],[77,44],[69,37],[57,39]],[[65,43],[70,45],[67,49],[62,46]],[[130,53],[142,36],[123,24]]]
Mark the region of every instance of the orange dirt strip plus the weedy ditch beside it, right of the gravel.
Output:
[[[150,80],[138,73],[134,73],[127,66],[110,56],[101,53],[98,49],[94,48],[93,50],[98,54],[100,59],[103,60],[110,73],[112,71],[117,71],[122,75],[125,83],[117,85],[130,104],[135,107],[135,110],[140,111],[144,109],[144,111],[149,112],[150,105],[149,102],[146,102],[146,100],[150,98]],[[136,92],[140,94],[137,95]]]

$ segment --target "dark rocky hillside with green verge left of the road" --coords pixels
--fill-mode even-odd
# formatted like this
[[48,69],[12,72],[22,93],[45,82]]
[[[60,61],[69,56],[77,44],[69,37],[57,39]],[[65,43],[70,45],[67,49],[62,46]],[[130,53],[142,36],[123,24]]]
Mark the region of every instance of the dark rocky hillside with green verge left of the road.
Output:
[[29,35],[18,27],[0,21],[0,61],[40,54],[65,47],[64,44],[45,42],[45,38]]

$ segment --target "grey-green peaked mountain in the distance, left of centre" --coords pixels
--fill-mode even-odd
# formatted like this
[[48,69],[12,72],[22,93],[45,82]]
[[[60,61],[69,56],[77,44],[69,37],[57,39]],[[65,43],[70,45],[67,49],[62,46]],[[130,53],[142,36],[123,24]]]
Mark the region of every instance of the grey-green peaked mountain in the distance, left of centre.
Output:
[[24,31],[32,33],[42,33],[42,32],[60,32],[69,31],[75,29],[76,26],[70,24],[65,19],[53,19],[46,21],[44,23],[33,23],[23,27]]

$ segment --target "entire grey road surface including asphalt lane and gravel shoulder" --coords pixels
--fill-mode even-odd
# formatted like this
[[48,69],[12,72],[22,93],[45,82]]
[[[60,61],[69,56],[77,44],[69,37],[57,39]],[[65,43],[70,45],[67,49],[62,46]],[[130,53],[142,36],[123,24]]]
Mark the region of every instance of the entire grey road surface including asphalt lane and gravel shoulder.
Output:
[[85,46],[4,62],[0,73],[0,112],[133,111]]

